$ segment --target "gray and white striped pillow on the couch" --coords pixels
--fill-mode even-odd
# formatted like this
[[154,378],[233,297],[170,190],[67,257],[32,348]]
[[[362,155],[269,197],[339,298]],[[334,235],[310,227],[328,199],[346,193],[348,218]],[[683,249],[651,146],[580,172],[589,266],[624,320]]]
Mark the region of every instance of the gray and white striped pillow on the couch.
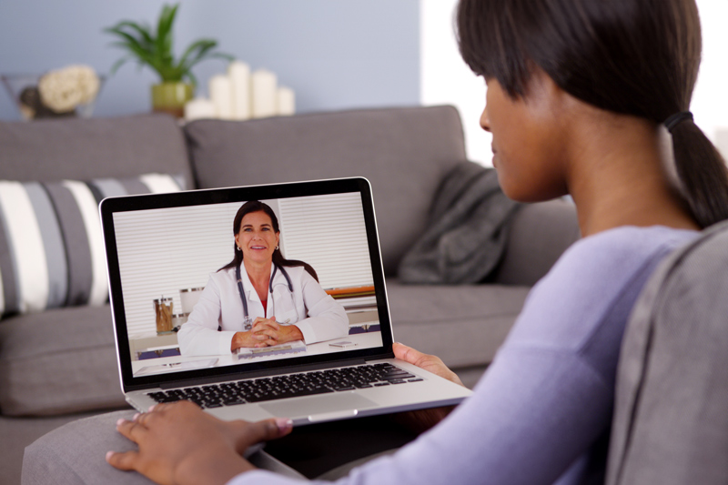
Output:
[[0,315],[105,304],[98,203],[184,188],[184,177],[161,174],[90,182],[0,180]]

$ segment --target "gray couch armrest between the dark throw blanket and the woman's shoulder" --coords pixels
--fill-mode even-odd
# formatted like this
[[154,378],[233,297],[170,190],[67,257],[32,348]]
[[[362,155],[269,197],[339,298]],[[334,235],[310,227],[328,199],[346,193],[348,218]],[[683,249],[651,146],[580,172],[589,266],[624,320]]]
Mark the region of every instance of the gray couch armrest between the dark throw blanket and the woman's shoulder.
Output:
[[576,207],[571,201],[557,199],[522,207],[513,218],[494,282],[533,286],[579,237]]

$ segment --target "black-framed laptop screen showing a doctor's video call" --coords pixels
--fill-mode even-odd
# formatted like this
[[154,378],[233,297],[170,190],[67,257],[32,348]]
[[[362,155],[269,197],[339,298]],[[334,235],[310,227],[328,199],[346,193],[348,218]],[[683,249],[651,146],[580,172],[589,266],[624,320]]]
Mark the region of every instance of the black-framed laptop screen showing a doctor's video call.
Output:
[[362,178],[114,197],[101,217],[125,390],[389,356]]

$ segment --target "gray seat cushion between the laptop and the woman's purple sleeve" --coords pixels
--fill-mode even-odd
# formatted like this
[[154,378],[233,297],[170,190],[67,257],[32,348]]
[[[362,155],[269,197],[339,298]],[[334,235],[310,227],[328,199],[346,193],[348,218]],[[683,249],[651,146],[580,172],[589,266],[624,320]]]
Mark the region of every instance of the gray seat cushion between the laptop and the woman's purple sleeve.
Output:
[[387,280],[394,339],[453,368],[490,363],[531,288]]

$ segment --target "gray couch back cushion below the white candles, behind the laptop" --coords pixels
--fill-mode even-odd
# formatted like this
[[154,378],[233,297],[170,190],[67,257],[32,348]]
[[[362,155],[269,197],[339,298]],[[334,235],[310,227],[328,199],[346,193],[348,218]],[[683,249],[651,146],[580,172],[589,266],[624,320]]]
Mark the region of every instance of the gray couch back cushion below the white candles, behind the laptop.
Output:
[[367,177],[387,274],[424,231],[445,174],[465,159],[451,106],[200,120],[185,131],[200,187]]

